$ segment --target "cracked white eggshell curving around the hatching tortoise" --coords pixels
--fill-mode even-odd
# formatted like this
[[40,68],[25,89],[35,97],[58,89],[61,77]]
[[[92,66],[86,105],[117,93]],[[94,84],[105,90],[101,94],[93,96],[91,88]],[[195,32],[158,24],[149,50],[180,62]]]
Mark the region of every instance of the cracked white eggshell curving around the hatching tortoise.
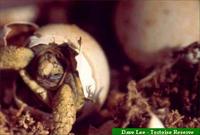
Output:
[[[39,28],[35,36],[31,37],[29,47],[38,44],[55,42],[57,44],[73,43],[81,48],[76,57],[77,70],[83,85],[85,97],[88,97],[87,87],[95,94],[99,105],[102,105],[107,97],[110,83],[108,63],[100,45],[88,33],[75,25],[51,24]],[[79,50],[77,50],[79,51]]]

